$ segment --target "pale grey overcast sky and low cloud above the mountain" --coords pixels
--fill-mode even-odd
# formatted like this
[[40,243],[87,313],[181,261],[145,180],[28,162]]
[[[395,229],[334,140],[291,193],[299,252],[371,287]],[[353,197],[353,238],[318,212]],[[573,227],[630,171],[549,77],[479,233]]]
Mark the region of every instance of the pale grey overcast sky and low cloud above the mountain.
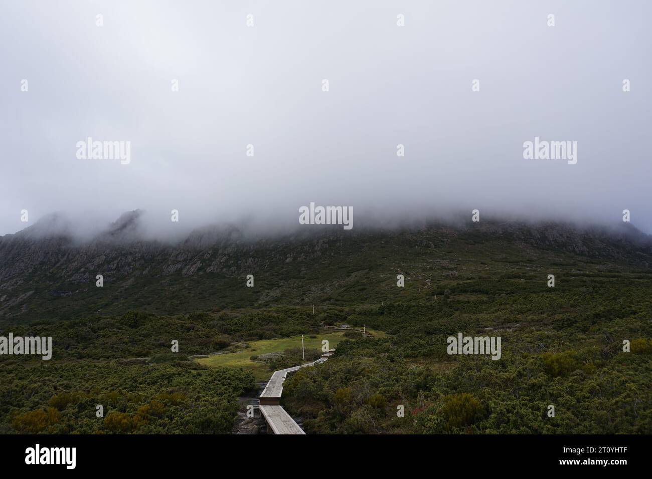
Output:
[[[652,233],[650,2],[0,8],[0,234],[54,211],[296,224],[310,201],[469,220],[629,209]],[[524,159],[535,136],[577,141],[577,163]],[[130,163],[77,158],[88,137],[130,141]]]

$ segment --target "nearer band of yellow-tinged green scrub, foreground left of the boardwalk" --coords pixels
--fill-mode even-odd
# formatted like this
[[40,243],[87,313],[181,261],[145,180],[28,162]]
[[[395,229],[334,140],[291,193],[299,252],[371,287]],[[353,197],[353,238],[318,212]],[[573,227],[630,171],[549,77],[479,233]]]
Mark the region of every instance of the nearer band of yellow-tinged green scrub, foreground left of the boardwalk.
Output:
[[230,433],[237,396],[254,387],[250,373],[192,361],[5,362],[0,370],[8,379],[0,387],[0,433]]

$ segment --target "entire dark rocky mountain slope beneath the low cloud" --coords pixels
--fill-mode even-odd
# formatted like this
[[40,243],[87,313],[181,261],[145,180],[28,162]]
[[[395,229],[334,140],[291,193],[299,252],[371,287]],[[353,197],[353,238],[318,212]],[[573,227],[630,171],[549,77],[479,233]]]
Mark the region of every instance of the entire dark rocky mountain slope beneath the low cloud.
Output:
[[[652,237],[628,225],[577,227],[482,221],[352,231],[306,227],[250,237],[206,227],[177,242],[143,239],[141,212],[80,240],[52,215],[0,237],[0,321],[38,321],[134,308],[174,313],[265,304],[379,302],[442,294],[484,278],[548,273],[649,274]],[[101,274],[104,286],[96,287]],[[253,274],[254,287],[246,287]],[[388,296],[389,295],[389,296]]]

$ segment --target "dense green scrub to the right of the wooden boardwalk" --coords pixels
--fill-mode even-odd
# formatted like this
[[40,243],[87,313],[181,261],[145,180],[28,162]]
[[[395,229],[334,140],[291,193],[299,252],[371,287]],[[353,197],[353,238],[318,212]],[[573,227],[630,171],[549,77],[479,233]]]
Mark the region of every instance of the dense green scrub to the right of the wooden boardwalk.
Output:
[[[391,336],[344,341],[297,371],[286,407],[314,433],[652,433],[652,283],[540,283],[351,308],[347,323]],[[500,360],[448,355],[458,332],[501,336]]]

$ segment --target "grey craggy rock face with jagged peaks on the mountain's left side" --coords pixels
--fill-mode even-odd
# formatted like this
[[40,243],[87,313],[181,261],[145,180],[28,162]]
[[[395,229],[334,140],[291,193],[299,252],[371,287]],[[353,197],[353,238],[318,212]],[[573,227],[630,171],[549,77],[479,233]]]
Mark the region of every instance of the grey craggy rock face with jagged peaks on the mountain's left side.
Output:
[[[235,275],[285,261],[288,253],[284,250],[293,246],[288,239],[244,240],[234,228],[200,229],[175,244],[143,240],[139,239],[139,217],[138,211],[126,213],[110,229],[85,242],[68,236],[67,227],[53,227],[52,218],[45,226],[39,222],[16,235],[0,237],[0,289],[12,289],[35,272],[73,283],[88,283],[98,271],[104,278],[203,272]],[[329,239],[308,240],[290,255],[308,260],[328,247]]]

